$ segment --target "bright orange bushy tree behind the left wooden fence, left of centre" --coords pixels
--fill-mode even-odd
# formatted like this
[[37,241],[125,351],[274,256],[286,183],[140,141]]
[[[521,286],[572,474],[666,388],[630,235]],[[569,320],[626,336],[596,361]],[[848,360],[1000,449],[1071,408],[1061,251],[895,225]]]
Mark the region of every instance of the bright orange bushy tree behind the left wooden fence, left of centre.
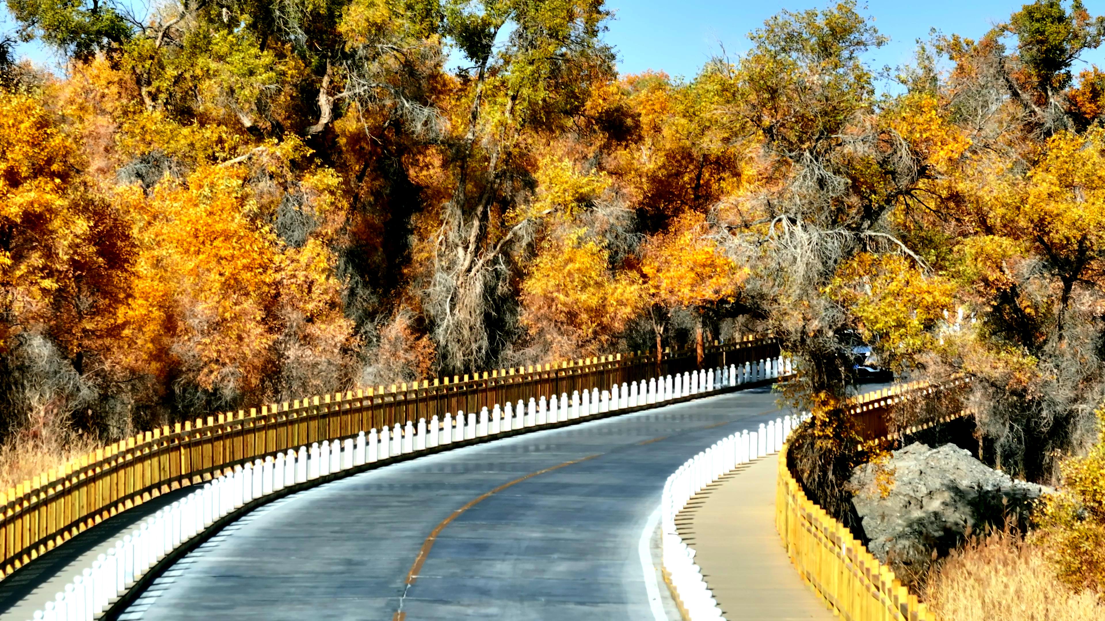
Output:
[[[120,190],[144,223],[120,355],[154,390],[172,386],[179,413],[348,381],[352,326],[334,253],[322,236],[302,244],[278,238],[259,218],[264,202],[243,183],[259,169],[278,173],[282,158],[296,155],[285,143],[252,166],[202,167],[148,197],[136,187]],[[299,180],[305,207],[325,219],[337,207],[330,175]]]

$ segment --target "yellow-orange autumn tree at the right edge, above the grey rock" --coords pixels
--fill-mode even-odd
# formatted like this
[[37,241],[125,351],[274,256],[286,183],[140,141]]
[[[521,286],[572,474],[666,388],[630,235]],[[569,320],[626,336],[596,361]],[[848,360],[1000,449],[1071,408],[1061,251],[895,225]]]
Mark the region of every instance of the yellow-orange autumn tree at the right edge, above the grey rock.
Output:
[[1072,66],[1102,23],[1080,2],[1040,1],[978,41],[937,38],[951,71],[903,99],[930,102],[928,134],[957,155],[934,160],[896,224],[977,319],[923,367],[975,378],[986,459],[1044,482],[1095,438],[1101,394],[1099,78]]

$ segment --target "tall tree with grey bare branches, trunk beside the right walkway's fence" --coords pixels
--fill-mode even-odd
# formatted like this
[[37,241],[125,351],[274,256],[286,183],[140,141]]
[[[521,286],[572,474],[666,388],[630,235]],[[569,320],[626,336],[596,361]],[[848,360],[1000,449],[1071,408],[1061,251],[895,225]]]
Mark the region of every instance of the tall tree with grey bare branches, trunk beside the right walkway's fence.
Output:
[[854,3],[783,11],[751,40],[716,71],[728,78],[727,122],[762,144],[759,182],[725,201],[718,220],[734,252],[753,257],[748,286],[766,292],[770,325],[800,359],[796,394],[813,421],[796,441],[798,473],[822,506],[844,514],[841,486],[859,448],[844,412],[857,318],[827,286],[861,253],[918,261],[890,215],[933,170],[878,115],[862,55],[886,39]]

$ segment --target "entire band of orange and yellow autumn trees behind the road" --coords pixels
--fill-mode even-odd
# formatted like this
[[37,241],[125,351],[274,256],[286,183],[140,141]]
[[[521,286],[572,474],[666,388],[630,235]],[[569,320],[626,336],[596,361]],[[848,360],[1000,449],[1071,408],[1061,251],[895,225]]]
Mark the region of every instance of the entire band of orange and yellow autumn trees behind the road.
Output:
[[975,378],[1029,477],[1095,438],[1105,19],[1078,1],[935,35],[885,93],[851,1],[686,80],[619,75],[601,0],[8,7],[66,59],[0,46],[8,438],[753,331],[798,360],[819,490],[859,446],[861,340]]

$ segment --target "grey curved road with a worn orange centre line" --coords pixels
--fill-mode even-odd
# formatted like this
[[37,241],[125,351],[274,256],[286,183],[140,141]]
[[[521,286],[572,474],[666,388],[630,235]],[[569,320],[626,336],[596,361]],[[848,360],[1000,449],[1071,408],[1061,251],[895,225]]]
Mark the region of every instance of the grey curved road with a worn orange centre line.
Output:
[[782,415],[768,389],[419,457],[266,505],[124,620],[651,620],[638,543],[664,481]]

